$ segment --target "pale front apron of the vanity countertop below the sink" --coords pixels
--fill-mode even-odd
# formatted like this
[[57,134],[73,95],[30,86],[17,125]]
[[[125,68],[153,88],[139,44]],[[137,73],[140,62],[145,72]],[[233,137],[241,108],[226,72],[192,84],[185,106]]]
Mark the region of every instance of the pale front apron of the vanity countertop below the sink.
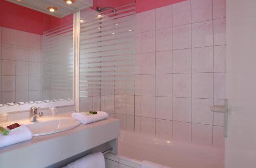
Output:
[[119,120],[117,119],[108,118],[90,124],[81,124],[67,131],[36,136],[29,141],[0,148],[0,167],[15,167],[25,162],[42,162],[40,167],[49,166],[118,136]]

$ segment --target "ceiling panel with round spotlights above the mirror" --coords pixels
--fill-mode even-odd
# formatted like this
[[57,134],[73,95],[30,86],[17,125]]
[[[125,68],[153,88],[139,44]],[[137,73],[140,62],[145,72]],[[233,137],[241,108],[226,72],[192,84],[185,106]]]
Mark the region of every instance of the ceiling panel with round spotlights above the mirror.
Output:
[[[7,0],[11,3],[21,5],[39,12],[43,12],[49,15],[53,15],[59,18],[65,17],[71,13],[77,12],[84,8],[90,8],[93,6],[93,0],[75,0],[75,3],[69,5],[63,0]],[[57,11],[49,12],[48,7],[56,7]]]

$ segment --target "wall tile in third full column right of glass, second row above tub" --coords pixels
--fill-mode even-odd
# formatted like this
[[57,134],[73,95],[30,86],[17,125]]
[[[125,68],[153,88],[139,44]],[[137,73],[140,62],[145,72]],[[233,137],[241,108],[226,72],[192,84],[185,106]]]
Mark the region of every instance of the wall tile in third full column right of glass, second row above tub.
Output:
[[174,97],[173,120],[191,122],[191,98]]

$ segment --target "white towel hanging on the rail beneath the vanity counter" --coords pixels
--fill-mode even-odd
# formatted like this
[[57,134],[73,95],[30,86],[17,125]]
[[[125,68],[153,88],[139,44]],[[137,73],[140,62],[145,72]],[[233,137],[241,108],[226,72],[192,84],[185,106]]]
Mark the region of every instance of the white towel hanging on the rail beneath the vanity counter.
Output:
[[72,163],[69,163],[66,167],[69,168],[105,168],[105,159],[101,152],[93,153],[84,156]]

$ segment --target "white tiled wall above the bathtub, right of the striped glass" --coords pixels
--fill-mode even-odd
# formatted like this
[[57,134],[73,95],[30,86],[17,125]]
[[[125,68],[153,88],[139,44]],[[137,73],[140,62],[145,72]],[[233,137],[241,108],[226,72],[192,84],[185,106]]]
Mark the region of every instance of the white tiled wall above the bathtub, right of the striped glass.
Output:
[[223,146],[223,115],[209,106],[226,97],[225,22],[225,0],[136,14],[135,111],[115,108],[123,129]]

